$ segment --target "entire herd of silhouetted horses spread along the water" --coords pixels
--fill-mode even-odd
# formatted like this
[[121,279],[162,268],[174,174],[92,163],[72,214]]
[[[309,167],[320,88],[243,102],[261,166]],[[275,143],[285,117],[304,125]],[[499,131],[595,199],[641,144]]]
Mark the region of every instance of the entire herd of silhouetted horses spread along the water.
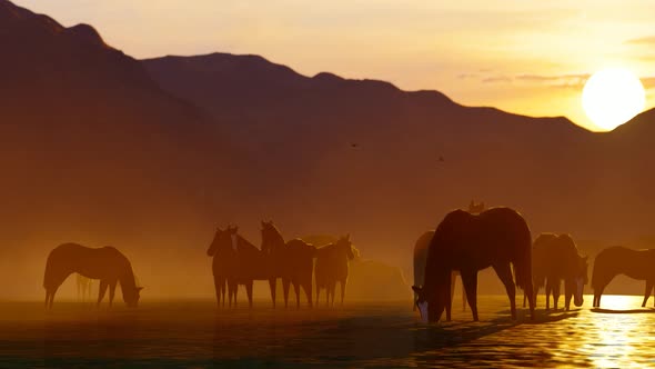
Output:
[[[206,250],[212,257],[212,272],[216,303],[221,308],[236,306],[239,286],[244,286],[249,306],[252,307],[252,289],[255,280],[269,282],[275,307],[278,279],[282,281],[284,306],[289,303],[289,289],[293,286],[296,307],[300,308],[301,289],[313,307],[321,290],[325,290],[326,306],[334,305],[335,287],[341,287],[341,302],[345,296],[349,260],[355,256],[350,236],[335,242],[316,247],[302,239],[285,241],[272,221],[261,222],[261,248],[241,235],[238,227],[216,229]],[[601,251],[594,262],[591,286],[594,290],[593,307],[601,306],[605,287],[617,275],[645,280],[643,307],[655,288],[655,249],[632,250],[611,247]],[[510,298],[512,318],[516,318],[516,287],[523,290],[523,307],[527,303],[534,318],[536,295],[545,288],[546,309],[553,296],[557,309],[560,287],[564,282],[565,309],[571,300],[583,305],[584,286],[587,285],[587,258],[580,255],[568,235],[542,233],[534,242],[525,219],[515,210],[504,207],[484,208],[484,203],[471,203],[468,211],[447,213],[434,231],[425,232],[414,248],[415,308],[424,321],[439,321],[443,311],[451,319],[454,280],[458,276],[464,287],[463,308],[471,308],[477,320],[477,272],[492,267]],[[112,247],[88,248],[77,243],[63,243],[48,256],[43,287],[46,307],[51,308],[61,283],[72,273],[82,281],[98,279],[98,305],[109,290],[112,305],[114,290],[120,282],[123,300],[135,307],[141,287],[128,258]],[[225,299],[225,293],[226,299]]]

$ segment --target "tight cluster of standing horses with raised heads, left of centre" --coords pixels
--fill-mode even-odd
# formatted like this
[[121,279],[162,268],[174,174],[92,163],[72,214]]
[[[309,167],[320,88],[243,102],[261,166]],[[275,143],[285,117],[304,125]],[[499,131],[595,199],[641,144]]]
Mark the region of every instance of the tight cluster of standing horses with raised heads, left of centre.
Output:
[[[236,306],[239,286],[245,286],[249,306],[252,307],[252,287],[255,280],[268,280],[271,299],[275,307],[278,279],[282,280],[284,307],[289,303],[289,288],[293,286],[295,303],[300,308],[300,289],[305,292],[308,303],[312,302],[312,281],[316,287],[316,305],[321,290],[325,290],[325,305],[334,305],[336,283],[340,285],[343,305],[347,281],[347,262],[354,259],[350,236],[322,247],[306,243],[302,239],[284,241],[272,221],[262,221],[261,249],[239,235],[238,227],[216,229],[206,255],[213,257],[212,272],[219,307]],[[314,265],[315,259],[315,265]],[[312,280],[313,277],[313,280]]]

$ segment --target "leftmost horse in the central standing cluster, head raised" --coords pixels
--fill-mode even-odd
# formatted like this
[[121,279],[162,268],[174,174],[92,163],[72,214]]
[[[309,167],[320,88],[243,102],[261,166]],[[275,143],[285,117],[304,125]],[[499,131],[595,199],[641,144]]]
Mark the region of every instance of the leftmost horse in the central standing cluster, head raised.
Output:
[[[213,258],[212,273],[214,276],[216,303],[219,308],[224,308],[228,277],[235,275],[234,268],[236,267],[236,242],[232,237],[230,226],[225,230],[221,228],[216,229],[214,239],[206,250],[206,255]],[[230,307],[232,307],[232,295],[229,298]],[[234,299],[234,303],[236,303],[236,299]]]

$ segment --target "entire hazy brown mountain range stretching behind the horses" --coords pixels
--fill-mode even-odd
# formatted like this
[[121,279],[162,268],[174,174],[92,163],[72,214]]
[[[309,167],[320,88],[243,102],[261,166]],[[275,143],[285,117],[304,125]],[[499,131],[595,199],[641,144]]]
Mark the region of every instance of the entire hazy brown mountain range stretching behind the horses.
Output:
[[350,232],[411,276],[415,238],[472,198],[535,235],[652,233],[652,111],[593,133],[256,56],[139,61],[6,0],[0,46],[0,266],[29,286],[78,241],[128,250],[149,296],[211,291],[213,228],[256,243],[264,218],[286,238]]

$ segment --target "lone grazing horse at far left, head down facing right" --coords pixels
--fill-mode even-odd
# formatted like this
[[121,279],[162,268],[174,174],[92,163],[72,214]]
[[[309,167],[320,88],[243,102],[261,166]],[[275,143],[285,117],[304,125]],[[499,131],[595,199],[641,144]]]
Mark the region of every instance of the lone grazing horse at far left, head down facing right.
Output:
[[109,306],[113,302],[115,286],[121,283],[123,300],[128,307],[137,307],[142,287],[137,287],[130,260],[113,247],[88,248],[78,243],[62,243],[48,256],[43,288],[46,308],[52,308],[54,293],[72,273],[100,279],[98,306],[109,287]]

